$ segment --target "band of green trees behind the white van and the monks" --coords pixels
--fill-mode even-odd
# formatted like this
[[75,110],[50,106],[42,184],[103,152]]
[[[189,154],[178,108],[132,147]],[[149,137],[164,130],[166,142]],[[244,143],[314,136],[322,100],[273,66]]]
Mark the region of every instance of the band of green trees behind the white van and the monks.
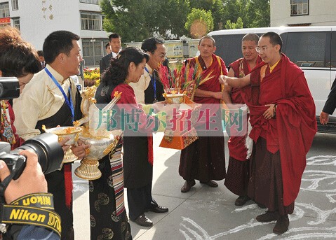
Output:
[[123,42],[177,39],[190,33],[195,20],[204,22],[206,33],[269,26],[269,0],[101,0],[100,6],[105,31],[119,33]]

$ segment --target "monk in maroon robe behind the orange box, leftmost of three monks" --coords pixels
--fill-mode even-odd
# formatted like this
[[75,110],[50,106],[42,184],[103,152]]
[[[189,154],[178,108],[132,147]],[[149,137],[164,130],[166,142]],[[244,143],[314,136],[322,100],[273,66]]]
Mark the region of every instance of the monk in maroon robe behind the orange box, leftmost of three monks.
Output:
[[[188,59],[187,62],[190,67],[197,65],[202,76],[194,101],[198,104],[211,104],[210,115],[217,115],[217,131],[222,134],[220,101],[223,94],[218,78],[227,75],[227,69],[224,61],[213,54],[215,49],[215,40],[204,36],[199,42],[201,55]],[[197,131],[199,139],[181,151],[179,173],[185,180],[181,192],[188,192],[196,184],[195,179],[210,187],[217,187],[218,184],[213,180],[219,181],[225,177],[224,136],[209,136],[206,129]]]

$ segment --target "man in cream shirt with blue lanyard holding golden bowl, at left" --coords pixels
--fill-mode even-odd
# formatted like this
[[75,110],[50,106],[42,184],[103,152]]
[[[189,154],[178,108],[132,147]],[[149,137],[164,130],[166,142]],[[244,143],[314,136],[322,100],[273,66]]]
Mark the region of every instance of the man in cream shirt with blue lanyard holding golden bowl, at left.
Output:
[[[25,91],[14,101],[18,116],[16,126],[23,139],[30,139],[46,128],[72,126],[81,118],[81,97],[69,76],[79,74],[81,61],[79,36],[69,31],[54,31],[43,43],[46,68],[36,73]],[[72,146],[80,158],[87,145]],[[62,219],[61,239],[74,239],[72,213],[72,164],[64,164],[61,171],[46,174],[48,192],[53,193],[55,211]]]

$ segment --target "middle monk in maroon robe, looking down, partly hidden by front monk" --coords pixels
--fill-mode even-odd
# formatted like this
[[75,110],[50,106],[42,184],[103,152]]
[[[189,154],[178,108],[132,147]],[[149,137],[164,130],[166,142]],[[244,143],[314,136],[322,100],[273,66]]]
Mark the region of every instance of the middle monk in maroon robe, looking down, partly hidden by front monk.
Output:
[[[257,64],[262,62],[255,48],[257,47],[259,36],[257,34],[246,34],[241,40],[241,52],[243,57],[230,64],[227,76],[243,78],[248,75]],[[259,87],[251,87],[253,103],[257,104]],[[224,102],[228,108],[236,108],[238,104],[244,104],[241,97],[240,88],[224,87]],[[231,105],[235,104],[235,105]],[[247,126],[246,126],[247,130]],[[229,132],[230,139],[227,142],[229,148],[229,166],[227,167],[227,176],[224,185],[239,197],[234,204],[243,206],[250,200],[248,197],[248,181],[250,170],[250,156],[246,148],[246,136],[237,136],[232,129]]]

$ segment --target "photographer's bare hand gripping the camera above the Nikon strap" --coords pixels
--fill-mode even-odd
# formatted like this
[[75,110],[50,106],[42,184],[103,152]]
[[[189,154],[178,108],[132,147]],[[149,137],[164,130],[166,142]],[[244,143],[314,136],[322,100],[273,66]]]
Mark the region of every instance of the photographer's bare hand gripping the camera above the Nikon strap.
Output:
[[[19,197],[36,192],[47,192],[48,190],[46,178],[44,178],[36,153],[22,150],[20,155],[27,157],[26,167],[22,171],[21,176],[16,180],[12,180],[5,190],[5,200],[8,204]],[[10,171],[6,163],[0,161],[1,181],[4,181],[9,174]]]

